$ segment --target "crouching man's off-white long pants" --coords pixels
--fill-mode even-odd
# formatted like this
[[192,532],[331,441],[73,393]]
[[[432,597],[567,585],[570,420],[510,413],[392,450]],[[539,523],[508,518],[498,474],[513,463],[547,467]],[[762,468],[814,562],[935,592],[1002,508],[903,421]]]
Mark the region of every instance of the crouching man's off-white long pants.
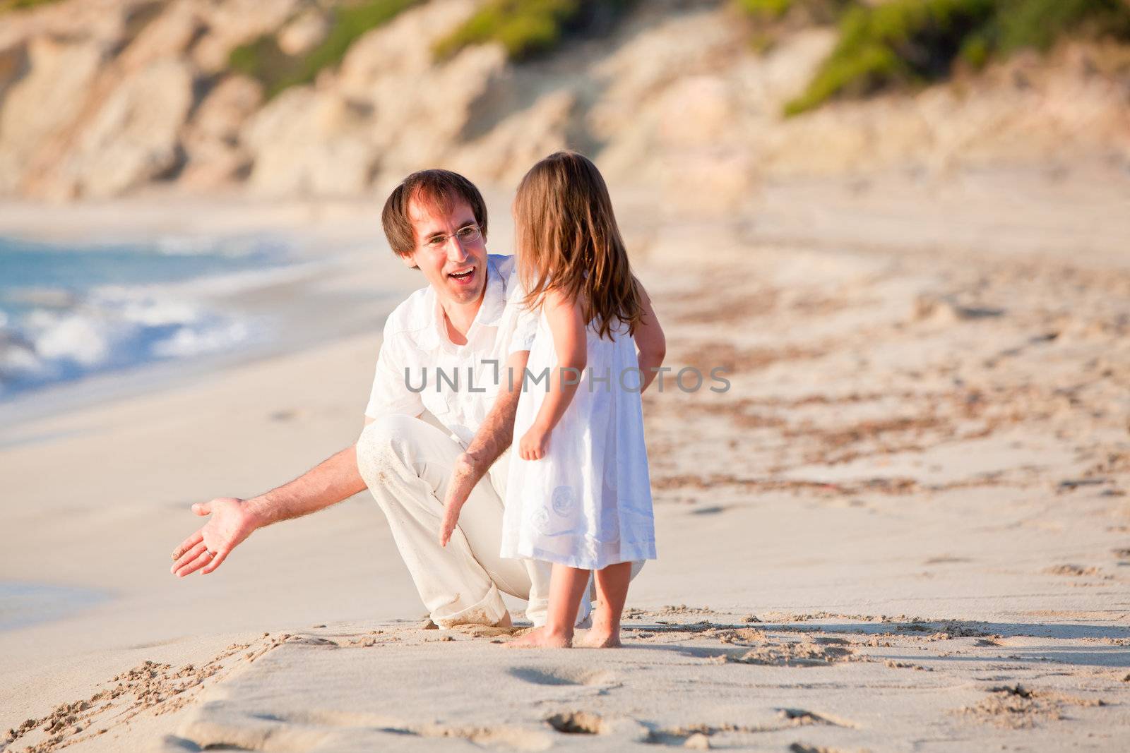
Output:
[[[426,421],[388,415],[365,427],[357,439],[357,470],[389,519],[433,622],[441,628],[495,624],[506,614],[502,592],[527,599],[525,616],[542,625],[551,566],[498,555],[508,450],[471,491],[447,546],[440,545],[443,498],[463,449]],[[577,624],[588,620],[591,604],[586,593]]]

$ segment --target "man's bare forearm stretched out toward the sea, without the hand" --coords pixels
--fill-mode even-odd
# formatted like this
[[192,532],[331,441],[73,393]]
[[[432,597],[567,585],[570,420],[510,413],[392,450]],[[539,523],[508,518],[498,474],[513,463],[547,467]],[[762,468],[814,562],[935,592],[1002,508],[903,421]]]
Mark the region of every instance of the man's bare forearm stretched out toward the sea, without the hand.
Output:
[[366,488],[357,471],[354,445],[332,455],[278,489],[247,500],[259,527],[316,513]]

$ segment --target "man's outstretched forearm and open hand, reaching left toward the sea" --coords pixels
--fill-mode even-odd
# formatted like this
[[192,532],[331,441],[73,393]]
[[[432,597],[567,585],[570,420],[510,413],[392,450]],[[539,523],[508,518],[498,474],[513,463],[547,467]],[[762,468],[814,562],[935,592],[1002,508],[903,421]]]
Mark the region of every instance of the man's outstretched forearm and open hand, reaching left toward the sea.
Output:
[[316,513],[365,488],[365,481],[357,471],[357,448],[350,445],[294,481],[259,497],[219,497],[209,502],[197,502],[192,511],[211,517],[173,550],[172,572],[180,578],[202,568],[207,575],[255,529]]

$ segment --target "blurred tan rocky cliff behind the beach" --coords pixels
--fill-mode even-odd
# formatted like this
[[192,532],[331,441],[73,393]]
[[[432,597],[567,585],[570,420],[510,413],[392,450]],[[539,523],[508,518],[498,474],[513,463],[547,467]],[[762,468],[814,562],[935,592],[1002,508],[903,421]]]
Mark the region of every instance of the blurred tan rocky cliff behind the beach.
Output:
[[266,97],[232,71],[263,34],[302,50],[304,0],[63,0],[0,21],[0,195],[185,192],[356,195],[443,165],[512,185],[573,147],[618,184],[696,207],[766,176],[947,170],[1101,158],[1130,164],[1130,52],[1066,43],[918,93],[784,119],[834,40],[805,28],[750,45],[731,3],[637,2],[599,36],[513,63],[487,44],[432,47],[476,0],[411,6],[310,85]]

